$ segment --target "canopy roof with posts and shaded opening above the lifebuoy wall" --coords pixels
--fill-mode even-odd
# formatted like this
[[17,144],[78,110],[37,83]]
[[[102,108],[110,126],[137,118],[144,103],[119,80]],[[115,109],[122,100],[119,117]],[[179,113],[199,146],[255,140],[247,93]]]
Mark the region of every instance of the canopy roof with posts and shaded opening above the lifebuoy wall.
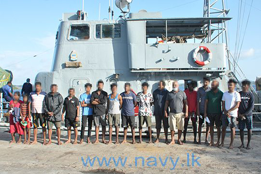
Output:
[[[128,21],[146,21],[146,38],[164,37],[191,37],[202,39],[202,43],[211,43],[222,36],[226,28],[222,23],[232,18],[229,17],[197,17],[197,18],[160,18],[160,19],[127,19]],[[209,26],[214,28],[211,28]],[[212,36],[214,31],[218,30],[218,34]],[[167,42],[165,42],[167,43]]]

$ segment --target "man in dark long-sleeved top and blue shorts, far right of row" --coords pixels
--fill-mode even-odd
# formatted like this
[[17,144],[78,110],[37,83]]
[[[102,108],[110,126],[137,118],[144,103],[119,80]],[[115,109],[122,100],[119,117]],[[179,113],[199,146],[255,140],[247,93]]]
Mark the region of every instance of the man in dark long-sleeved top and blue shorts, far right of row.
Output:
[[247,149],[250,148],[252,135],[252,110],[254,109],[254,95],[249,91],[250,81],[242,81],[242,91],[240,91],[241,102],[238,108],[238,128],[240,130],[241,145],[244,148],[244,128],[247,126]]

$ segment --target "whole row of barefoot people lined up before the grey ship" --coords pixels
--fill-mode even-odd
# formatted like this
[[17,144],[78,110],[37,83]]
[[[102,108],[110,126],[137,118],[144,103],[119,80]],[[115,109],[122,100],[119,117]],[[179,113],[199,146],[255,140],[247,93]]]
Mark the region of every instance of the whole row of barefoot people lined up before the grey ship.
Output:
[[[94,144],[99,143],[99,125],[102,126],[102,142],[105,144],[112,143],[112,127],[115,126],[116,141],[119,144],[119,122],[122,117],[122,126],[124,127],[124,139],[122,143],[127,142],[127,128],[131,127],[133,144],[135,143],[135,113],[134,108],[139,106],[139,143],[142,143],[142,126],[146,122],[149,133],[149,143],[152,143],[151,135],[151,117],[154,115],[156,120],[157,138],[155,143],[159,142],[161,125],[163,122],[165,143],[175,144],[174,134],[177,128],[178,139],[177,143],[182,145],[186,143],[186,132],[189,119],[192,121],[194,143],[201,144],[201,130],[204,119],[207,118],[209,123],[206,127],[205,144],[210,146],[224,146],[224,137],[226,127],[231,127],[231,143],[229,148],[233,148],[233,140],[235,137],[236,118],[239,117],[239,129],[242,145],[244,147],[244,127],[248,129],[248,144],[250,148],[251,129],[252,129],[252,110],[253,110],[253,94],[249,91],[249,81],[243,81],[243,90],[238,93],[235,91],[234,80],[229,80],[229,91],[223,93],[218,89],[218,81],[213,80],[211,88],[209,87],[210,80],[203,79],[203,86],[198,90],[197,83],[190,81],[188,88],[184,91],[179,90],[178,81],[173,81],[173,90],[168,92],[164,87],[164,81],[159,82],[159,87],[153,93],[148,92],[148,83],[142,84],[142,91],[135,93],[131,90],[131,84],[124,85],[125,91],[121,94],[117,93],[117,84],[111,84],[111,94],[108,95],[104,90],[104,82],[98,81],[97,90],[91,93],[92,84],[85,84],[86,92],[80,95],[80,99],[75,97],[75,90],[69,89],[68,97],[63,99],[61,94],[57,92],[57,85],[51,85],[51,92],[46,94],[41,90],[41,83],[35,83],[35,91],[30,95],[23,95],[23,102],[17,102],[18,93],[14,94],[14,100],[10,102],[10,108],[20,104],[21,111],[20,124],[11,123],[10,115],[10,133],[12,134],[12,142],[14,140],[14,133],[25,135],[25,142],[30,143],[30,120],[34,125],[34,141],[31,144],[37,143],[37,128],[39,126],[43,129],[44,144],[51,144],[52,127],[57,129],[58,144],[61,135],[61,121],[65,121],[65,126],[68,130],[68,140],[65,143],[71,142],[71,127],[75,131],[75,140],[73,144],[77,144],[77,127],[79,124],[79,107],[82,107],[82,125],[81,125],[81,140],[79,144],[84,141],[85,127],[88,122],[88,138],[87,143],[90,143],[91,128],[94,122],[96,139]],[[20,97],[20,96],[19,96]],[[241,102],[241,99],[244,100]],[[154,105],[154,113],[152,113],[151,106]],[[239,108],[239,109],[238,109]],[[31,114],[32,113],[32,114]],[[65,113],[65,116],[64,116]],[[32,115],[32,116],[31,116]],[[197,126],[198,120],[198,136],[197,141]],[[106,124],[109,124],[109,141],[105,140]],[[24,122],[28,122],[26,126]],[[46,143],[46,123],[48,126],[49,141]],[[214,144],[213,132],[214,124],[217,128],[218,141]],[[220,143],[220,127],[222,125],[222,141]],[[20,126],[20,127],[19,127]],[[171,142],[168,141],[168,128],[171,131]],[[211,142],[208,142],[209,128],[211,134]],[[22,130],[20,130],[22,129]],[[18,131],[17,131],[18,130]],[[20,131],[19,131],[20,130]],[[183,131],[183,141],[181,135]],[[28,139],[26,139],[28,133]],[[18,141],[18,142],[19,142]]]

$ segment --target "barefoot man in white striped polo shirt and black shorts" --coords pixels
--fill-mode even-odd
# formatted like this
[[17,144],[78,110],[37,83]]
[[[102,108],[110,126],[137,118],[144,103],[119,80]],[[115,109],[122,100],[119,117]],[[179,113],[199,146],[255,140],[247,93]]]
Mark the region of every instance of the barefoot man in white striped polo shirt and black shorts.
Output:
[[32,117],[34,124],[34,141],[31,144],[37,143],[37,128],[39,123],[42,126],[44,142],[46,144],[46,115],[44,111],[44,97],[46,93],[42,91],[41,82],[35,82],[35,91],[30,93],[29,106],[32,106]]

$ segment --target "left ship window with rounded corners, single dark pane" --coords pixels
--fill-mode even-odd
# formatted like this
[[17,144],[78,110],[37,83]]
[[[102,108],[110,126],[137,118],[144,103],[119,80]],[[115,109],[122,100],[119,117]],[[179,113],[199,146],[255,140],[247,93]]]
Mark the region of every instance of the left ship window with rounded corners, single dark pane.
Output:
[[69,40],[87,40],[90,38],[88,25],[71,25]]

